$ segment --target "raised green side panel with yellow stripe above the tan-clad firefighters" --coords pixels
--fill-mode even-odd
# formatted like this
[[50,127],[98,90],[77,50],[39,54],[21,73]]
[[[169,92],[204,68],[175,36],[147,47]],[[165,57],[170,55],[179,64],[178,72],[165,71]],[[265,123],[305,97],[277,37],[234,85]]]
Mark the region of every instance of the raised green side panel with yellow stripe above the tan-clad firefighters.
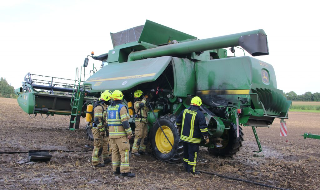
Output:
[[127,90],[138,84],[155,81],[171,62],[170,56],[110,64],[89,77],[84,84],[91,92]]

